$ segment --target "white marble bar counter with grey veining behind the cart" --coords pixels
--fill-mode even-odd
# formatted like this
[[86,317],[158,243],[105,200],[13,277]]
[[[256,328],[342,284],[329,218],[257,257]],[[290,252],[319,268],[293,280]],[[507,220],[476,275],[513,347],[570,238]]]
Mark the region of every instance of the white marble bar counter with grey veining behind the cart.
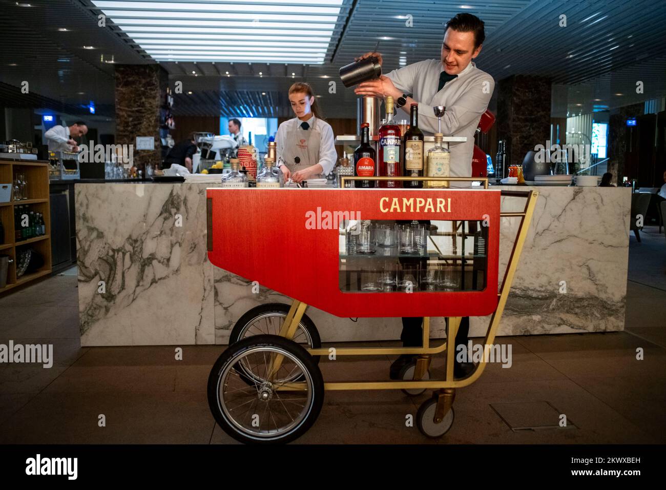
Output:
[[[208,262],[206,187],[215,185],[75,185],[81,345],[224,344],[248,309],[288,303]],[[622,330],[631,190],[518,189],[540,194],[499,335]],[[502,209],[523,204],[504,197]],[[500,278],[518,221],[501,221]],[[402,327],[399,318],[307,314],[322,341],[398,339]],[[487,325],[488,317],[473,318],[470,335]],[[431,336],[444,336],[443,319],[433,319]]]

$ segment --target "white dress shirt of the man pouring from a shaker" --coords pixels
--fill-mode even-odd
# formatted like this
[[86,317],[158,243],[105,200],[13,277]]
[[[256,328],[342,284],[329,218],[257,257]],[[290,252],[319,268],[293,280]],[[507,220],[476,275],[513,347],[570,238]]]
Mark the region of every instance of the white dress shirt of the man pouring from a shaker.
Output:
[[[488,73],[481,71],[470,61],[467,67],[458,73],[458,77],[448,81],[438,91],[442,61],[426,59],[390,73],[396,88],[403,93],[412,93],[418,102],[418,127],[424,135],[432,136],[438,131],[438,119],[432,107],[444,105],[446,112],[442,117],[444,136],[464,136],[466,143],[449,143],[451,151],[451,177],[472,177],[472,153],[474,153],[474,134],[481,115],[488,109],[493,95],[495,81]],[[410,107],[400,107],[409,119]],[[398,115],[402,119],[402,115]],[[452,187],[469,187],[467,183],[451,184]]]

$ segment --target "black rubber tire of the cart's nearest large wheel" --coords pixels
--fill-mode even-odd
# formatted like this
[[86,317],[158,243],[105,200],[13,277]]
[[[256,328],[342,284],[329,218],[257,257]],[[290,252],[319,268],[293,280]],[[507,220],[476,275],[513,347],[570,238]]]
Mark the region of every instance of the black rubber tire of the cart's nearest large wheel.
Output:
[[[222,373],[224,373],[224,370],[228,367],[228,363],[230,363],[239,353],[255,349],[256,347],[274,347],[293,355],[304,365],[312,379],[312,401],[306,417],[298,426],[294,427],[290,432],[280,435],[280,437],[270,439],[250,437],[236,429],[236,427],[228,421],[224,411],[220,407],[218,393]],[[285,444],[294,441],[294,439],[298,439],[298,437],[312,427],[312,424],[314,424],[322,410],[323,404],[324,378],[322,377],[318,365],[316,365],[312,356],[303,347],[296,342],[284,339],[284,337],[280,337],[279,335],[252,335],[230,345],[220,357],[218,357],[217,361],[215,361],[210,370],[210,375],[208,376],[208,406],[210,407],[210,411],[215,418],[215,421],[220,425],[224,432],[230,435],[230,437],[246,444]]]

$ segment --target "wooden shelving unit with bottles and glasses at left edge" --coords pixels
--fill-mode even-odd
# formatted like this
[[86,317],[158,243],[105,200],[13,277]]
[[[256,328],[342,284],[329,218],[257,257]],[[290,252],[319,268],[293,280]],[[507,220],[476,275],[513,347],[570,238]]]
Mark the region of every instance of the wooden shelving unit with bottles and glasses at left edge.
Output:
[[[15,173],[25,174],[28,183],[28,197],[23,201],[0,203],[0,218],[5,228],[5,237],[0,245],[0,255],[9,255],[13,263],[9,264],[7,286],[0,288],[0,294],[13,287],[29,283],[34,279],[51,273],[51,206],[49,202],[49,163],[44,161],[24,161],[0,159],[0,183],[11,183]],[[13,195],[11,196],[13,199]],[[16,206],[29,206],[30,211],[41,213],[44,217],[45,235],[21,241],[15,241],[14,209]],[[44,265],[37,271],[17,277],[17,257],[21,250],[31,248],[44,258]]]

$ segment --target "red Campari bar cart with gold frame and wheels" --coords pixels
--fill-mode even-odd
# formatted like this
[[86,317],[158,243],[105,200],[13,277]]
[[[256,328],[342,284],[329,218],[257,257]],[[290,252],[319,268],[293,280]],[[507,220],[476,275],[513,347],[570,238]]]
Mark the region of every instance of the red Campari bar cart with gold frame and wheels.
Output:
[[[294,299],[242,315],[212,367],[208,403],[226,433],[245,443],[293,441],[318,417],[325,390],[352,389],[433,389],[417,426],[428,437],[450,429],[456,389],[485,363],[455,379],[448,340],[462,317],[492,314],[485,343],[494,342],[537,192],[448,180],[481,180],[484,189],[207,189],[210,262]],[[525,198],[523,211],[502,213],[502,196]],[[501,217],[520,225],[500,283]],[[424,317],[422,347],[322,349],[308,305],[338,317]],[[439,345],[430,343],[430,317],[447,318]],[[318,361],[332,349],[416,356],[398,381],[324,383]],[[441,353],[446,376],[430,379],[431,357]]]

